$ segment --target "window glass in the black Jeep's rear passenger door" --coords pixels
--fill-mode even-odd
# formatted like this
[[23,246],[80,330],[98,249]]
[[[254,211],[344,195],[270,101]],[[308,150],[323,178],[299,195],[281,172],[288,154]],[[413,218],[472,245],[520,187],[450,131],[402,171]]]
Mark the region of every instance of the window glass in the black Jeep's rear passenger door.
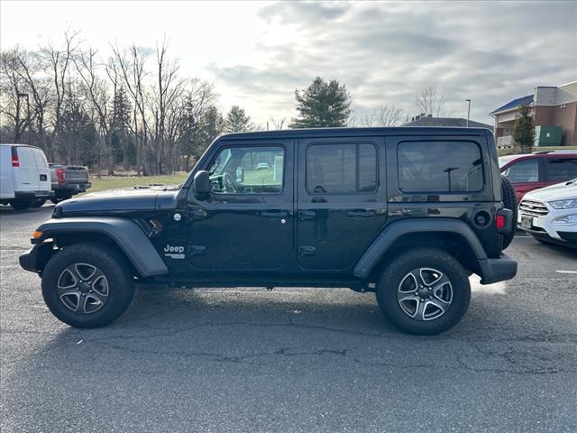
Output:
[[313,144],[307,148],[309,194],[377,190],[377,149],[369,143]]

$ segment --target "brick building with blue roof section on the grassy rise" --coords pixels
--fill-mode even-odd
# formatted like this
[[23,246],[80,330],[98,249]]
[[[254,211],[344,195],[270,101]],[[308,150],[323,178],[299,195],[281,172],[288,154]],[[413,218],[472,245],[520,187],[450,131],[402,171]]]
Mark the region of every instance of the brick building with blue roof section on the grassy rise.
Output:
[[577,146],[577,81],[558,88],[535,88],[533,95],[513,99],[491,112],[499,147],[513,145],[513,121],[523,104],[531,106],[536,126],[559,126],[563,128],[561,145]]

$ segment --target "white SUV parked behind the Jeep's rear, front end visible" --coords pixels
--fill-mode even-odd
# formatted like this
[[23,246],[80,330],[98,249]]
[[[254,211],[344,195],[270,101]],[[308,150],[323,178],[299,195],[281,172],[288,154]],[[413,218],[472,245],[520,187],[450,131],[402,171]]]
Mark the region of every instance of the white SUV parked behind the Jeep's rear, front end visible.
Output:
[[577,178],[527,193],[517,227],[538,241],[577,248]]

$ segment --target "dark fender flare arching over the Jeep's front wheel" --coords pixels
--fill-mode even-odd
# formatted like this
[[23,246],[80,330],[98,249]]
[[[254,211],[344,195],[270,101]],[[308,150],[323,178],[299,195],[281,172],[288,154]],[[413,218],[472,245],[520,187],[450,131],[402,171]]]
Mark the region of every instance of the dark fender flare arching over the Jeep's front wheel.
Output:
[[70,234],[96,234],[110,237],[133,263],[142,277],[169,273],[160,254],[133,220],[119,217],[52,218],[38,227],[42,239]]

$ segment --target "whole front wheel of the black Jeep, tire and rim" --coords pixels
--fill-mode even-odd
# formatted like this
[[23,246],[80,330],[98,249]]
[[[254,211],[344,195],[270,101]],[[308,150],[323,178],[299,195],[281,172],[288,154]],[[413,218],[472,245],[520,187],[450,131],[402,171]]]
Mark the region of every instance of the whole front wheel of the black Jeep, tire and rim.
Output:
[[101,244],[73,244],[52,256],[42,296],[56,318],[72,327],[104,327],[128,308],[134,281],[124,257]]

